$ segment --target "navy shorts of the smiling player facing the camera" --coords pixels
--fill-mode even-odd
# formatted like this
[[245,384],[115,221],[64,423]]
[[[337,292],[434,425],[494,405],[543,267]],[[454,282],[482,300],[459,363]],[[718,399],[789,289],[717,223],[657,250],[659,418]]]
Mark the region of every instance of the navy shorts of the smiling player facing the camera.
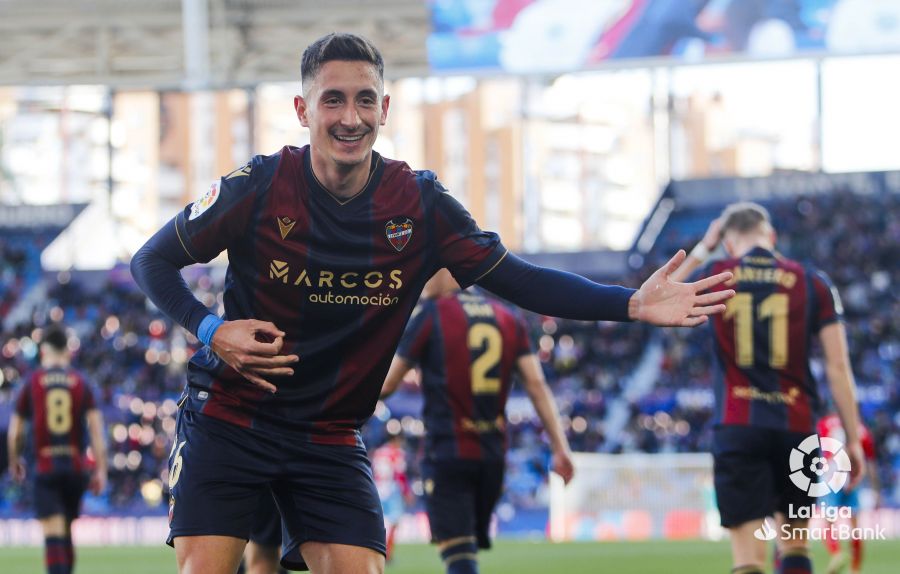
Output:
[[305,542],[385,553],[384,518],[362,446],[290,440],[182,410],[169,457],[169,538],[248,540],[271,490],[284,522],[281,564],[307,570]]

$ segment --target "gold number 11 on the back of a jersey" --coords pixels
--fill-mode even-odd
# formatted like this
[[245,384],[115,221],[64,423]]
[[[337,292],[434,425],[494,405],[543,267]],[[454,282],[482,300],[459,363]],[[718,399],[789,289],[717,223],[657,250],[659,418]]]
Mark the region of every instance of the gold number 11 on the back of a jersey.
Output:
[[[723,318],[734,320],[735,357],[739,367],[753,366],[753,295],[738,293],[726,304]],[[781,369],[788,360],[788,296],[773,293],[756,307],[756,317],[769,319],[769,365]]]

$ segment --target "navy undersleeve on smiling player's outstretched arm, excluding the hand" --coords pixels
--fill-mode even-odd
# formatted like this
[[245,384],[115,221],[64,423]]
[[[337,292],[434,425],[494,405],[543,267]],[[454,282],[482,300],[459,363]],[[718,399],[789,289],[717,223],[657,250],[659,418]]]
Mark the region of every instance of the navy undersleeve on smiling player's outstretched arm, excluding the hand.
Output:
[[512,253],[478,285],[530,311],[581,321],[628,321],[628,301],[635,292],[538,267]]

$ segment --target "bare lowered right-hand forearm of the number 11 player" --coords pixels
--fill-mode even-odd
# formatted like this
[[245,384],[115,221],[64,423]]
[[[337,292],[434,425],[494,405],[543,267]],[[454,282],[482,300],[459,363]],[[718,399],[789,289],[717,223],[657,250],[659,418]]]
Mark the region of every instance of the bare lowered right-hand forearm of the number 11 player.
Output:
[[850,369],[847,352],[847,335],[843,323],[835,322],[819,331],[822,350],[825,352],[825,372],[828,387],[837,407],[841,426],[844,427],[847,444],[844,450],[850,457],[850,485],[856,487],[865,476],[866,459],[859,440],[859,411],[856,406],[856,382]]

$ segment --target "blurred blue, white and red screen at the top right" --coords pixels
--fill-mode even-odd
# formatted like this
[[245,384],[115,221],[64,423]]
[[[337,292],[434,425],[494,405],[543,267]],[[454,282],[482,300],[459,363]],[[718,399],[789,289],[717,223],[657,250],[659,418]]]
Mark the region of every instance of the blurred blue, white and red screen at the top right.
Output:
[[429,0],[437,71],[569,72],[611,60],[900,47],[897,0]]

